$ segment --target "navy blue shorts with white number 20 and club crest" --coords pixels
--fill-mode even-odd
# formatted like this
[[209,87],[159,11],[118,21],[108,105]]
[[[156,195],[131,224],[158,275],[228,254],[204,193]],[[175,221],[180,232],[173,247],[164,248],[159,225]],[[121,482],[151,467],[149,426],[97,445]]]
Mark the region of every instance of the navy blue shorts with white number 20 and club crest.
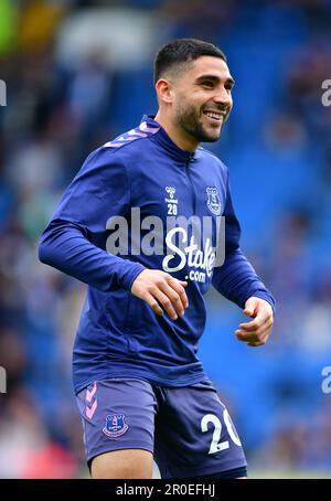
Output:
[[116,377],[89,385],[77,403],[88,462],[111,450],[145,449],[161,478],[245,472],[241,440],[210,381],[166,387]]

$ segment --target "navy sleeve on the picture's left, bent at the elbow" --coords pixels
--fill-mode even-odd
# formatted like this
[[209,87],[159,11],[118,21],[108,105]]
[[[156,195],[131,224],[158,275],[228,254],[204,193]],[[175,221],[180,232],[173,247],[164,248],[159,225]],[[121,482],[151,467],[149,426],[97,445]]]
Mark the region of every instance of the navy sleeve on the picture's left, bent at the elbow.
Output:
[[40,260],[103,291],[129,290],[145,267],[106,250],[107,221],[126,213],[129,198],[119,157],[107,149],[93,152],[41,236]]

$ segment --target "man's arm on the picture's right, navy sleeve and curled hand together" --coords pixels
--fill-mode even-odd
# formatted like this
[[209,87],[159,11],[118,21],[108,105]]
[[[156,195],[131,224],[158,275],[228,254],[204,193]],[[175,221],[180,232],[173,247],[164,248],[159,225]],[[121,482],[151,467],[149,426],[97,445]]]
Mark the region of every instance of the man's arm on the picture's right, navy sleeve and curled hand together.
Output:
[[235,215],[227,182],[225,216],[225,260],[214,269],[213,286],[225,298],[238,305],[253,320],[235,331],[248,347],[267,342],[271,333],[275,299],[239,248],[241,226]]

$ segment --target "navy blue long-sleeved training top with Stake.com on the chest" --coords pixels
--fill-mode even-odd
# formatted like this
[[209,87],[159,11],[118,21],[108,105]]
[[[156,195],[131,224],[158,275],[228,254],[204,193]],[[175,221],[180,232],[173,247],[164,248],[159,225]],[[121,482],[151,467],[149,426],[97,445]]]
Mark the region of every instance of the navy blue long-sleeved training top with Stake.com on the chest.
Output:
[[[132,231],[137,214],[142,221],[138,233]],[[215,267],[221,216],[225,260]],[[121,226],[113,225],[111,217]],[[160,224],[153,226],[156,217]],[[169,225],[171,217],[179,221],[174,226]],[[193,217],[192,224],[181,224],[181,217]],[[201,232],[199,241],[193,228],[203,217],[211,230]],[[203,148],[194,153],[180,149],[152,117],[145,116],[139,127],[90,153],[39,247],[42,263],[88,285],[73,353],[76,393],[108,377],[140,377],[167,386],[205,380],[196,352],[209,287],[241,308],[250,296],[275,306],[242,253],[239,235],[227,168]],[[115,255],[119,236],[124,244]],[[145,250],[153,245],[158,252]],[[189,281],[190,306],[182,318],[159,317],[130,292],[145,268]]]

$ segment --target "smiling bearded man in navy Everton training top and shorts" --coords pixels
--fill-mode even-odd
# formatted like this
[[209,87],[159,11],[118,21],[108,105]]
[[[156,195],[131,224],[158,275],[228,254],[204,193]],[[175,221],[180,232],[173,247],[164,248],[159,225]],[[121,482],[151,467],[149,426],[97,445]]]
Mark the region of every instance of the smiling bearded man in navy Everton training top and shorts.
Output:
[[[222,51],[183,39],[159,51],[154,82],[157,116],[87,158],[40,259],[89,286],[73,362],[92,476],[151,478],[154,458],[162,478],[245,478],[241,440],[196,358],[211,284],[253,318],[238,340],[263,345],[273,326],[274,299],[239,249],[227,169],[199,148],[218,139],[234,81]],[[211,234],[199,242],[196,221],[169,228],[173,216],[209,216]],[[150,217],[158,253],[146,250]]]

